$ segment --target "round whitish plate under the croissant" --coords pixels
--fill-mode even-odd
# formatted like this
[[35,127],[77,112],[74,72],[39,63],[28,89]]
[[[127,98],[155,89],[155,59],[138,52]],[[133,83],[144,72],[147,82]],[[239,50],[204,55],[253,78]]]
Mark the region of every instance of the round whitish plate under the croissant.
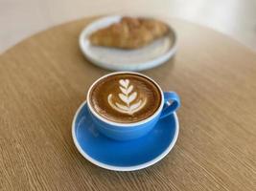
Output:
[[168,35],[136,50],[122,50],[92,46],[90,33],[119,22],[122,16],[108,16],[89,24],[80,35],[81,52],[95,65],[113,71],[142,71],[156,67],[176,52],[176,34],[170,27]]

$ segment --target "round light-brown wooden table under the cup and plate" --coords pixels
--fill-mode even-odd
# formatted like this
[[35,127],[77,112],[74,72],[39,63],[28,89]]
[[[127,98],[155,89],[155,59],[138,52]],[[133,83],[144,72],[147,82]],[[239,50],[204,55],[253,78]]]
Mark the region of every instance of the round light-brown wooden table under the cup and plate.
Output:
[[136,172],[77,151],[71,122],[108,73],[78,46],[87,18],[40,32],[0,56],[0,190],[255,190],[256,53],[221,33],[170,20],[178,53],[145,72],[181,96],[175,148]]

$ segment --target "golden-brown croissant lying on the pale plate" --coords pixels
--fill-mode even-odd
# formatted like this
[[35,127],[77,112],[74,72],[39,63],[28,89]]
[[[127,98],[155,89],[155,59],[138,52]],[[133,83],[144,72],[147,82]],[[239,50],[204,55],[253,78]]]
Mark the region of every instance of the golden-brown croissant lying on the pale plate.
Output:
[[123,17],[119,23],[93,32],[89,40],[96,46],[138,49],[168,32],[169,28],[163,22],[149,18]]

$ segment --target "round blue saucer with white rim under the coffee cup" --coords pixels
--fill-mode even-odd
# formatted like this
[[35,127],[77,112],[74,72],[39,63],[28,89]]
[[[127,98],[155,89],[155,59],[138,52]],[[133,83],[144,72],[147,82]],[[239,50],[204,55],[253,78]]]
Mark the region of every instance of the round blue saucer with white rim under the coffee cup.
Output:
[[109,170],[133,171],[151,166],[172,150],[178,136],[178,119],[176,114],[170,115],[143,138],[116,141],[96,130],[84,101],[73,119],[72,136],[85,159]]

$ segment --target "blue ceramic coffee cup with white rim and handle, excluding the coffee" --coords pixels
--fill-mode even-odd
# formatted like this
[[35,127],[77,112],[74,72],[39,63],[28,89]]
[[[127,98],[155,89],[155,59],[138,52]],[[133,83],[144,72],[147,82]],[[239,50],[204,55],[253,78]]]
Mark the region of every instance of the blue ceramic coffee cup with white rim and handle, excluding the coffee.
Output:
[[[156,112],[146,119],[143,119],[138,122],[131,123],[119,123],[106,119],[105,117],[100,116],[92,107],[90,103],[90,92],[92,88],[99,82],[103,80],[105,77],[113,74],[137,74],[141,75],[145,78],[148,78],[155,84],[161,93],[161,103]],[[87,94],[87,106],[90,116],[93,119],[93,122],[96,124],[96,128],[108,138],[113,138],[116,140],[129,140],[133,138],[141,138],[148,134],[151,129],[155,126],[155,124],[164,117],[168,117],[172,115],[180,106],[179,96],[175,92],[163,92],[160,86],[152,80],[149,76],[139,73],[132,72],[117,72],[106,74],[103,77],[96,80],[91,87],[89,88]]]

